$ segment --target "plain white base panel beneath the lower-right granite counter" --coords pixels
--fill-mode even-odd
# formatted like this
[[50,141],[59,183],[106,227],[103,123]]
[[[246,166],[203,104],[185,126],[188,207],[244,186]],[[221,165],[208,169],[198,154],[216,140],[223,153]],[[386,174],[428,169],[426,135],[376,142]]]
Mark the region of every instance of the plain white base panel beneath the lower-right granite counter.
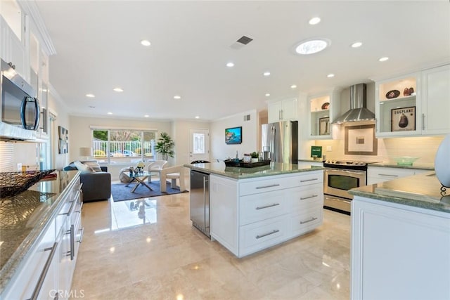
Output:
[[380,202],[352,201],[351,299],[450,299],[449,214]]

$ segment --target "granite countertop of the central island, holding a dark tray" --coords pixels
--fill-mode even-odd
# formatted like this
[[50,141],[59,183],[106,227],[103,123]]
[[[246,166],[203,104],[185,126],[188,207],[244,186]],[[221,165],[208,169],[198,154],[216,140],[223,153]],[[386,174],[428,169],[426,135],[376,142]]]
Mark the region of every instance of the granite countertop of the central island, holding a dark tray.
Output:
[[293,174],[306,171],[319,171],[323,169],[323,167],[317,166],[300,167],[298,164],[281,164],[274,162],[271,162],[271,164],[267,166],[255,168],[226,167],[224,162],[211,162],[207,164],[185,164],[184,167],[188,167],[190,169],[207,174],[217,174],[234,179]]

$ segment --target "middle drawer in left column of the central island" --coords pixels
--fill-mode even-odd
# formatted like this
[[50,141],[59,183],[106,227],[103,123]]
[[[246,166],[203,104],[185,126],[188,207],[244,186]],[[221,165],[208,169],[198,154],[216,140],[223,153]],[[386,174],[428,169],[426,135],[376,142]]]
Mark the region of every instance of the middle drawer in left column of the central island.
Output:
[[240,197],[239,224],[245,225],[286,214],[290,208],[290,190]]

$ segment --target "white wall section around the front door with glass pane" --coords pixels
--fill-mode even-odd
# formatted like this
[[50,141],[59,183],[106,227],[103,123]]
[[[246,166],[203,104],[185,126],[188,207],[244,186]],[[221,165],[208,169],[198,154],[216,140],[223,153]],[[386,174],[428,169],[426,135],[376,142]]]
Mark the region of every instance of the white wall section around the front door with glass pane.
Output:
[[[175,141],[174,164],[189,164],[189,129],[210,129],[209,122],[174,121],[172,123],[172,138]],[[211,133],[210,133],[210,136]]]

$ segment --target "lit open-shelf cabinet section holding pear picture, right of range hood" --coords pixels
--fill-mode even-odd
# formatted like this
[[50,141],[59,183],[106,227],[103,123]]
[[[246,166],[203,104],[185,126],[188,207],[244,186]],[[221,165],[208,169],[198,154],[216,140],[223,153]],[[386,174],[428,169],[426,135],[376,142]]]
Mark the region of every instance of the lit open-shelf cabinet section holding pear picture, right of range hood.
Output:
[[420,134],[420,73],[375,83],[377,136]]

